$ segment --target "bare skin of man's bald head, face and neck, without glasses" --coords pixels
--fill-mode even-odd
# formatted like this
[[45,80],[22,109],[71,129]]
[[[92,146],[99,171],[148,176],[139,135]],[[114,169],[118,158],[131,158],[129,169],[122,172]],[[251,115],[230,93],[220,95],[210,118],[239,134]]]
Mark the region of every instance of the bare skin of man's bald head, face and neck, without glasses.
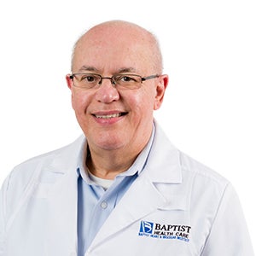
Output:
[[[161,74],[155,38],[142,27],[113,20],[86,32],[73,52],[73,73]],[[151,136],[154,110],[160,108],[168,76],[144,81],[137,89],[113,86],[109,79],[94,89],[75,87],[67,74],[72,106],[88,141],[86,165],[97,177],[113,179],[125,172]],[[98,118],[99,116],[111,118]]]

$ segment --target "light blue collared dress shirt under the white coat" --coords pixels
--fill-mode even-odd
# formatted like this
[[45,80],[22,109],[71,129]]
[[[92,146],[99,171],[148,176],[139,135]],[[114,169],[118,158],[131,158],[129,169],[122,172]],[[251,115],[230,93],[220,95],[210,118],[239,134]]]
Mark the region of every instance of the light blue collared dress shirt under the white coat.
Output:
[[[137,160],[126,171],[119,174],[113,180],[109,189],[94,183],[84,168],[84,154],[79,154],[79,179],[78,179],[78,256],[84,256],[96,233],[101,229],[102,224],[108,218],[113,208],[119,203],[125,192],[130,188],[131,183],[143,171],[146,165],[148,154],[154,138],[154,129],[150,140]],[[86,146],[86,145],[85,145]],[[86,147],[84,147],[86,148]]]

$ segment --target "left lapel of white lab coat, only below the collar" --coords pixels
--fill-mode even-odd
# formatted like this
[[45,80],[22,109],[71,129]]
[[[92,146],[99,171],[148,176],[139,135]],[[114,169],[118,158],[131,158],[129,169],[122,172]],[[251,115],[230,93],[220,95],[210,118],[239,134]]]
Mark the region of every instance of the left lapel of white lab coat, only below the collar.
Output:
[[75,252],[77,247],[76,170],[67,170],[61,179],[49,195],[49,216],[52,222],[47,245],[51,252],[55,248],[56,255],[59,255],[60,247],[65,247],[66,252]]

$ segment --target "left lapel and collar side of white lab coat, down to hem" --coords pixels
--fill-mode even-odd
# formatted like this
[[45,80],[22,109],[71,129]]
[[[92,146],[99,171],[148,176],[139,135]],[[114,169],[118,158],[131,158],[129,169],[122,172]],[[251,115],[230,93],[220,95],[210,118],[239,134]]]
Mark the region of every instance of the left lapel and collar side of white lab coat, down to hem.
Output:
[[[84,140],[79,140],[56,154],[54,160],[45,166],[42,173],[55,179],[54,183],[41,183],[39,194],[47,196],[49,205],[49,255],[73,255],[77,251],[77,203],[78,173],[76,172],[78,151]],[[74,157],[75,156],[75,157]]]

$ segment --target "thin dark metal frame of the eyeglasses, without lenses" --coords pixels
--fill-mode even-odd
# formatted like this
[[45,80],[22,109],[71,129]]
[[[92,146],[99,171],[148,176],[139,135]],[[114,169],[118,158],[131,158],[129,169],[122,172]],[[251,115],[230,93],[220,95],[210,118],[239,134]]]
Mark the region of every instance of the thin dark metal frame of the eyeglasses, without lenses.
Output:
[[[76,77],[76,75],[94,75],[94,76],[97,76],[100,78],[98,84],[102,84],[102,79],[110,79],[111,80],[111,84],[113,85],[116,85],[115,81],[114,81],[114,78],[117,77],[117,76],[136,76],[137,78],[140,78],[141,79],[141,82],[140,84],[143,84],[143,81],[146,81],[146,80],[149,80],[149,79],[156,79],[156,78],[159,78],[160,75],[159,74],[154,74],[154,75],[149,75],[147,77],[142,77],[138,74],[133,74],[133,73],[118,73],[118,74],[114,74],[112,77],[102,77],[102,75],[98,74],[98,73],[72,73],[70,76],[69,76],[69,79],[74,79]],[[74,80],[73,80],[73,84],[74,84]],[[78,88],[84,88],[86,89],[86,87],[83,87],[83,86],[77,86],[76,84],[74,84],[75,87],[78,87]],[[122,86],[122,85],[120,85]],[[124,86],[123,86],[124,87]],[[92,87],[94,88],[94,87]],[[127,86],[127,88],[129,88],[129,86]]]

